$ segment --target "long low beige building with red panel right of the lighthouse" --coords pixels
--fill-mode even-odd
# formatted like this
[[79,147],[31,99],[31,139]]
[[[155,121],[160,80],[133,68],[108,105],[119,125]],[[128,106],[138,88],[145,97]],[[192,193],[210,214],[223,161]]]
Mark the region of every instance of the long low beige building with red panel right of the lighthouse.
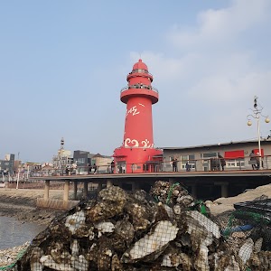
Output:
[[[271,139],[261,139],[262,166],[271,169]],[[224,170],[248,170],[251,169],[249,154],[253,150],[259,155],[258,141],[237,141],[214,145],[196,145],[185,147],[163,147],[163,171],[173,171],[173,160],[177,160],[178,171],[212,171],[220,169],[221,159],[225,160]],[[213,163],[218,159],[219,164]]]

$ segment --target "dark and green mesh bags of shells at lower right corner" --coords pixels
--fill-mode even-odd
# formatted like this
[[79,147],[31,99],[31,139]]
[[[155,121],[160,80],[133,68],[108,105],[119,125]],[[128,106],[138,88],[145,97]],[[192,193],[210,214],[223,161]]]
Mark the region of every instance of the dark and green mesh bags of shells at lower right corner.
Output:
[[271,200],[263,195],[254,201],[234,204],[236,210],[213,218],[227,244],[245,270],[271,270]]

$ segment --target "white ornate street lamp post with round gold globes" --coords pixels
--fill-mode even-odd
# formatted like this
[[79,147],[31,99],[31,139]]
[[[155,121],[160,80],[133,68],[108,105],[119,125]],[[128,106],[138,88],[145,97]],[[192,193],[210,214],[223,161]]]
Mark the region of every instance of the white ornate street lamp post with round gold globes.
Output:
[[266,117],[265,121],[266,123],[270,122],[270,119],[268,116],[264,116],[262,115],[262,110],[263,107],[261,105],[258,104],[257,102],[257,96],[254,97],[254,109],[251,109],[253,112],[253,115],[249,114],[248,115],[248,126],[252,126],[252,122],[251,119],[249,117],[253,117],[257,119],[257,144],[258,144],[258,158],[259,158],[259,169],[262,169],[262,150],[261,150],[261,135],[260,135],[260,116],[262,117]]

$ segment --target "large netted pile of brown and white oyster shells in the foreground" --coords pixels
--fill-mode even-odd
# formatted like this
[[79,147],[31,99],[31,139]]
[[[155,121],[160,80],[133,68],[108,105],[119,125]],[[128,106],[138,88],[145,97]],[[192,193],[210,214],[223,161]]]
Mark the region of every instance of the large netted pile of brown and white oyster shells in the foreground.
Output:
[[80,202],[34,238],[20,270],[271,270],[261,239],[231,248],[179,183],[155,182],[150,195],[112,186]]

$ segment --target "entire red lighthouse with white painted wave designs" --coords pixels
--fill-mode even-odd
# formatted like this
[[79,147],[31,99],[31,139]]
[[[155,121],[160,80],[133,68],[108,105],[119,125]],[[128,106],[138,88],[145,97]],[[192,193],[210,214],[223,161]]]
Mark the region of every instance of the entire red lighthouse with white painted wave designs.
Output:
[[121,89],[126,104],[123,145],[115,149],[115,168],[126,173],[157,171],[162,151],[154,149],[152,105],[158,102],[158,90],[151,85],[153,75],[142,60],[127,75],[128,85]]

